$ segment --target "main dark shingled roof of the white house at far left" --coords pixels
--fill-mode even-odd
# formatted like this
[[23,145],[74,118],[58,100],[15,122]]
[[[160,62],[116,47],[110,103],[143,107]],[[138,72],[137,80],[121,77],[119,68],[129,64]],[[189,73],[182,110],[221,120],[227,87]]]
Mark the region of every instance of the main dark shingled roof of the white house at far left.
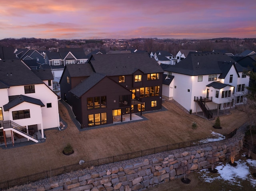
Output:
[[43,81],[20,60],[0,61],[0,82],[0,88],[6,88],[1,84],[9,87],[43,84]]

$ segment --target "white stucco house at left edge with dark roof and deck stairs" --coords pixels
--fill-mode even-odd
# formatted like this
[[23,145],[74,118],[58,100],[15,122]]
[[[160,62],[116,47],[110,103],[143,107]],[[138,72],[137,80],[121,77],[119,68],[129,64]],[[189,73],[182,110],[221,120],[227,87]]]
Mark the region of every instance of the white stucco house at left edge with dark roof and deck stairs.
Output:
[[22,61],[0,61],[0,139],[23,136],[38,142],[37,133],[60,125],[58,96],[50,70],[32,71]]

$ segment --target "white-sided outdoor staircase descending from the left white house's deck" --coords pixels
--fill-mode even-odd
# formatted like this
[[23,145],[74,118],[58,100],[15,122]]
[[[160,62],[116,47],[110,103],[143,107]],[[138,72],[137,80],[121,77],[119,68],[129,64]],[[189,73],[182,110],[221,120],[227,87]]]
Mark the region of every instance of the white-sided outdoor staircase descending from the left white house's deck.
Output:
[[12,122],[12,121],[5,121],[3,123],[3,126],[4,126],[4,131],[12,130],[13,132],[15,132],[17,134],[38,143],[38,137],[36,134],[30,135],[26,128]]

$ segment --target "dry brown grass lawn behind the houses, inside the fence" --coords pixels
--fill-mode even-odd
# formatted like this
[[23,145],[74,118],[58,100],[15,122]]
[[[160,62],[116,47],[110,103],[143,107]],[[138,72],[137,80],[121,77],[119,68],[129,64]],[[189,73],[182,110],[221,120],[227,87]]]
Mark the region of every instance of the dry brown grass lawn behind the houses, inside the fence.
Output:
[[[246,122],[242,112],[233,110],[230,115],[220,116],[222,129],[214,129],[214,120],[186,114],[171,102],[164,102],[163,106],[168,110],[143,114],[148,120],[80,132],[60,103],[59,112],[68,127],[63,131],[45,131],[44,143],[0,149],[0,172],[4,174],[0,181],[75,164],[81,159],[89,161],[206,138],[212,131],[226,134]],[[192,129],[192,121],[198,124],[197,129]],[[70,156],[62,154],[68,143],[74,149]]]

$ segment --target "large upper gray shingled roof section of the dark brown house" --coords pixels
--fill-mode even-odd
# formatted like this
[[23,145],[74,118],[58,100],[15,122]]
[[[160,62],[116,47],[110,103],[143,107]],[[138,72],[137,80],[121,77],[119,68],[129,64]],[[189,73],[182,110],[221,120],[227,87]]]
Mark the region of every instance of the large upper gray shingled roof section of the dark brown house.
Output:
[[96,73],[107,76],[132,75],[137,70],[145,74],[164,72],[148,53],[92,55],[89,63]]

